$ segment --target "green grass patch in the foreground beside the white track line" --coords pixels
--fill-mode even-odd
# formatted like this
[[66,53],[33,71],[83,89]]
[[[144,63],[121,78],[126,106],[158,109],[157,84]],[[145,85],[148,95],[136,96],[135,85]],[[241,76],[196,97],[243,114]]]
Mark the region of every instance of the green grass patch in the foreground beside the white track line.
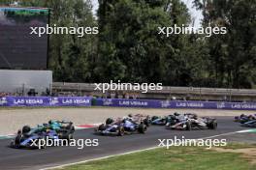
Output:
[[[255,147],[248,146],[248,147]],[[231,148],[246,148],[232,145]],[[255,170],[240,154],[220,153],[200,147],[155,149],[125,156],[113,156],[61,168],[64,170]]]

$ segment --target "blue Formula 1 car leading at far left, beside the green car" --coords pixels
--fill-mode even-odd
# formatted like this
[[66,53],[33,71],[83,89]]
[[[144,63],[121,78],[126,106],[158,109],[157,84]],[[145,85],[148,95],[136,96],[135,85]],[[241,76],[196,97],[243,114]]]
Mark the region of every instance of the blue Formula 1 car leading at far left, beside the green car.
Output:
[[38,126],[37,128],[24,126],[22,130],[17,131],[15,139],[11,141],[11,147],[45,149],[47,147],[47,138],[59,139],[55,130],[44,126]]

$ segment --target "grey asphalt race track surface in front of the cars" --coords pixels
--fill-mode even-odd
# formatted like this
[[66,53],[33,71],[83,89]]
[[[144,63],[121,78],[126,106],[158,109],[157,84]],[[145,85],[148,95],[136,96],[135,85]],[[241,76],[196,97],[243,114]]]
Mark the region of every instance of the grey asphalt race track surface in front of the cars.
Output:
[[[172,139],[184,136],[186,139],[197,139],[217,134],[238,131],[240,124],[233,122],[233,117],[218,118],[216,130],[168,130],[164,127],[151,126],[145,134],[132,134],[125,136],[101,136],[96,135],[93,129],[80,129],[75,132],[75,139],[99,139],[98,147],[49,147],[45,150],[12,149],[9,148],[10,139],[0,140],[0,168],[9,169],[41,169],[91,159],[101,156],[110,156],[130,152],[149,147],[156,147],[158,139]],[[232,135],[231,135],[232,136]],[[255,133],[240,134],[237,137],[222,136],[230,141],[251,141],[256,139]]]

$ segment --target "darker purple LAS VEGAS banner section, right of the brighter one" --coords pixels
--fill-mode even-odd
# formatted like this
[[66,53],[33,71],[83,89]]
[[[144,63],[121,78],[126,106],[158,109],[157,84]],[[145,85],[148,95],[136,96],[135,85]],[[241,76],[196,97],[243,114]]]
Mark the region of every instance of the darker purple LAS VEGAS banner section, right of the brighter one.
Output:
[[256,102],[183,101],[159,99],[95,99],[95,105],[146,108],[206,108],[256,110]]

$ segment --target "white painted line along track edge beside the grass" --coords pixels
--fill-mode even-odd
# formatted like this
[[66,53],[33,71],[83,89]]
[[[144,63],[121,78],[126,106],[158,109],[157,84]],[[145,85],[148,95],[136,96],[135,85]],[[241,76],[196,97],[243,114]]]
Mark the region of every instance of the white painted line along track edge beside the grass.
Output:
[[[197,140],[215,138],[215,137],[231,135],[231,134],[240,133],[240,132],[248,132],[248,131],[247,130],[240,130],[240,131],[227,132],[227,133],[217,134],[217,135],[213,135],[213,136],[198,138]],[[113,156],[125,156],[125,155],[129,155],[129,154],[140,153],[140,152],[143,152],[143,151],[154,150],[154,149],[157,149],[157,148],[164,148],[164,147],[158,147],[157,146],[157,147],[146,148],[146,149],[143,149],[143,150],[135,150],[135,151],[130,151],[130,152],[111,155],[111,156],[102,156],[102,157],[97,157],[97,158],[91,158],[91,159],[87,159],[87,160],[81,160],[81,161],[78,161],[78,162],[66,163],[66,164],[52,166],[52,167],[48,167],[48,168],[42,168],[40,170],[50,170],[50,169],[56,169],[56,168],[63,168],[63,167],[66,167],[66,166],[77,165],[77,164],[86,163],[86,162],[95,161],[95,160],[101,160],[101,159],[110,158],[110,157],[113,157]]]

